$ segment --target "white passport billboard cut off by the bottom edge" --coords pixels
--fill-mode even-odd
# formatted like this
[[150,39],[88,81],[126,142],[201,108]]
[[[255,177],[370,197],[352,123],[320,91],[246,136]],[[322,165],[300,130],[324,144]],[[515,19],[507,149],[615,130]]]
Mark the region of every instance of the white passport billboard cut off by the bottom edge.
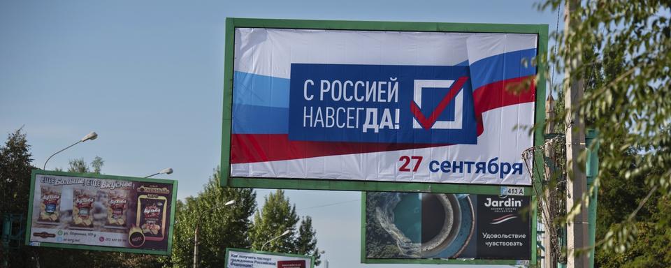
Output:
[[224,268],[313,268],[315,258],[306,255],[226,248]]

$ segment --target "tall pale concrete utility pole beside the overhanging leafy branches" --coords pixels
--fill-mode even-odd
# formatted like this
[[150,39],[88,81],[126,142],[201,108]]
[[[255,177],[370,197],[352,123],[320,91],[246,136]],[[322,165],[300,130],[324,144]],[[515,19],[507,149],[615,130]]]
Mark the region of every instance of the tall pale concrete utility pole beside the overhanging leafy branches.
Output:
[[[578,0],[566,1],[564,33],[568,36],[573,27],[579,23],[579,19],[571,18],[577,6]],[[577,16],[576,16],[577,17]],[[575,45],[567,44],[569,50],[575,49]],[[567,246],[567,267],[583,268],[589,267],[589,258],[586,252],[576,250],[585,249],[588,246],[588,219],[586,202],[582,200],[587,191],[587,178],[578,161],[579,155],[585,151],[585,125],[584,119],[577,112],[580,101],[584,93],[584,79],[581,75],[575,73],[575,67],[582,61],[582,54],[578,53],[576,59],[568,59],[565,70],[565,108],[566,108],[566,171],[568,179],[566,180],[566,211],[570,211],[575,206],[579,207],[579,213],[569,218],[566,223],[566,246]],[[584,166],[584,165],[583,165]]]

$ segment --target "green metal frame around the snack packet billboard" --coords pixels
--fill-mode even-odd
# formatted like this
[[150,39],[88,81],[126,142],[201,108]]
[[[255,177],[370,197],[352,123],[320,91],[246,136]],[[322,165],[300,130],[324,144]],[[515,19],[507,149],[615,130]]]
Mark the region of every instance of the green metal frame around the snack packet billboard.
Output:
[[116,179],[122,181],[141,181],[141,182],[155,182],[158,184],[172,184],[173,185],[173,195],[171,199],[171,209],[170,209],[170,228],[168,228],[168,249],[166,251],[157,251],[152,249],[142,249],[142,248],[120,248],[113,246],[89,246],[89,245],[73,245],[73,244],[62,244],[62,243],[50,243],[50,242],[40,242],[39,246],[46,246],[50,248],[73,248],[73,249],[84,249],[89,251],[113,251],[113,252],[126,252],[126,253],[143,253],[143,254],[154,254],[154,255],[170,255],[173,248],[173,230],[175,229],[175,202],[177,202],[177,181],[171,179],[147,179],[139,177],[123,177],[123,176],[113,176],[113,175],[103,175],[103,174],[94,174],[94,173],[73,173],[73,172],[60,172],[60,171],[50,171],[50,170],[33,170],[31,172],[30,179],[30,199],[28,202],[28,216],[26,223],[26,245],[30,245],[30,234],[32,228],[32,217],[33,217],[33,198],[35,194],[35,178],[36,175],[55,175],[55,176],[67,176],[67,177],[83,177],[83,178],[95,178],[95,179]]

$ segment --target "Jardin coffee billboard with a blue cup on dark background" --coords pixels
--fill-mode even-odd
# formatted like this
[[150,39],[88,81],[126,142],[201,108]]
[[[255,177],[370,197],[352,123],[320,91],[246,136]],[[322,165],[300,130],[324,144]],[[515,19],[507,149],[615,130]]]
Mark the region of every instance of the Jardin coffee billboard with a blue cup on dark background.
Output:
[[530,188],[519,195],[363,193],[365,263],[528,265]]

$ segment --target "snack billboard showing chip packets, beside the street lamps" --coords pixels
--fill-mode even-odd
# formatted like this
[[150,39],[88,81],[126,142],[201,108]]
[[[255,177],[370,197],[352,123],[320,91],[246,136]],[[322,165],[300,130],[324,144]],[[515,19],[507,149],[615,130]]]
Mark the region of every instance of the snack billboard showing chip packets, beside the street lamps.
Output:
[[26,244],[168,255],[177,181],[33,170]]

